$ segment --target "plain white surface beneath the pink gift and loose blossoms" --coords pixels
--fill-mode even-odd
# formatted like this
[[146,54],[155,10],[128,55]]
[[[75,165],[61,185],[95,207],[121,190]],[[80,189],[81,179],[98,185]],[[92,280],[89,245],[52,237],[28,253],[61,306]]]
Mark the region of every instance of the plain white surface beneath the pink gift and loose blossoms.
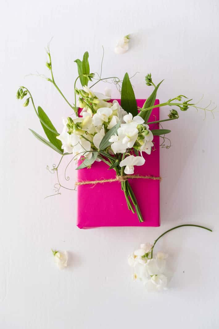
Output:
[[[203,106],[210,100],[219,105],[218,10],[213,0],[1,3],[0,328],[218,328],[218,113],[203,120],[203,111],[190,109],[164,124],[172,130],[172,147],[161,149],[160,228],[79,230],[76,192],[61,190],[44,200],[56,183],[46,165],[59,156],[31,135],[28,128],[43,135],[42,127],[32,106],[15,99],[18,86],[27,86],[62,129],[61,117],[71,109],[52,84],[25,77],[49,74],[44,47],[54,37],[55,80],[71,102],[74,60],[88,50],[91,71],[99,72],[103,45],[103,77],[140,72],[132,79],[137,98],[151,92],[144,76],[152,72],[156,83],[165,79],[161,102],[178,94],[198,101],[204,94]],[[114,54],[117,40],[129,33],[130,50]],[[162,108],[161,117],[168,111]],[[60,178],[67,184],[64,167]],[[68,174],[71,188],[74,166]],[[174,276],[168,291],[148,294],[132,282],[127,256],[183,223],[213,233],[181,228],[161,239],[156,250],[169,254]],[[51,248],[69,251],[67,269],[54,265]]]

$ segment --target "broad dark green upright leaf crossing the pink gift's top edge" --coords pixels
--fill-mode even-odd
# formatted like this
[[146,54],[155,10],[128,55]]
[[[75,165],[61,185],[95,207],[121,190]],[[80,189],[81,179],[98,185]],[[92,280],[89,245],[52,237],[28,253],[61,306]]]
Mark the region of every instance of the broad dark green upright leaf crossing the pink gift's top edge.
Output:
[[131,113],[133,116],[138,115],[138,108],[135,99],[135,94],[128,76],[128,73],[125,73],[124,79],[122,81],[121,89],[121,107],[128,113]]

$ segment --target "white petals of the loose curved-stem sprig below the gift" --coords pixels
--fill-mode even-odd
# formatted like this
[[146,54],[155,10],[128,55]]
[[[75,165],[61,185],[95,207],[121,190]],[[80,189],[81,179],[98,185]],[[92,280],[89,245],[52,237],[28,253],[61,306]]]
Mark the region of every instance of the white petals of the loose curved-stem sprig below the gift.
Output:
[[128,264],[134,268],[134,281],[142,281],[147,291],[165,290],[167,286],[166,258],[167,254],[158,252],[151,258],[152,244],[142,243],[140,249],[128,257]]

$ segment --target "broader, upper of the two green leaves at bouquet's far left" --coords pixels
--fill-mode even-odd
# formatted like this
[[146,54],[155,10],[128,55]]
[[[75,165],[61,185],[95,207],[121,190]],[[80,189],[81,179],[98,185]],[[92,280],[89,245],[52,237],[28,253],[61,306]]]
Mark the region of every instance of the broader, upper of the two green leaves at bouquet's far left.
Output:
[[[53,125],[52,122],[50,121],[50,119],[49,119],[49,117],[47,116],[47,114],[43,111],[43,109],[42,109],[40,106],[38,106],[37,110],[38,110],[38,114],[39,114],[40,119],[42,119],[43,122],[45,122],[45,124],[46,124],[48,127],[52,128],[54,131],[57,132],[57,130],[55,129],[54,125]],[[62,148],[61,148],[62,143],[61,143],[61,141],[60,141],[59,139],[56,138],[56,136],[58,136],[59,133],[58,133],[58,132],[57,132],[56,134],[53,133],[53,132],[50,131],[50,130],[49,130],[49,129],[48,129],[48,128],[47,128],[47,127],[41,122],[41,121],[40,121],[40,123],[41,123],[41,125],[42,125],[42,127],[43,127],[43,130],[44,130],[44,132],[45,132],[47,138],[49,139],[49,141],[50,141],[55,147],[57,147],[57,148],[59,149],[59,151],[61,151],[61,152],[63,153],[63,150],[62,150]]]

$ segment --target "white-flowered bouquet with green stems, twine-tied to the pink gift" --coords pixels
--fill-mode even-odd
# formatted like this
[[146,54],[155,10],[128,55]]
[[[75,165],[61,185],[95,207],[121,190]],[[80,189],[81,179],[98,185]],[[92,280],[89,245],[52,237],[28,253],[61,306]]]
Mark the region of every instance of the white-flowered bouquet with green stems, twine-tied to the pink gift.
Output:
[[[91,73],[88,52],[84,53],[82,61],[79,59],[75,61],[78,76],[74,84],[74,103],[72,103],[55,82],[49,47],[47,54],[48,62],[46,65],[50,77],[45,78],[55,86],[68,103],[72,110],[72,116],[63,119],[63,130],[61,133],[58,132],[43,109],[40,106],[35,107],[31,92],[26,87],[21,86],[16,96],[18,99],[27,97],[23,104],[24,107],[28,106],[29,101],[32,102],[47,139],[33,130],[31,132],[37,139],[59,153],[61,159],[64,156],[72,155],[77,163],[77,170],[90,168],[92,164],[100,161],[107,164],[108,169],[115,172],[115,178],[78,181],[76,187],[85,184],[96,185],[119,181],[128,209],[132,213],[136,213],[139,221],[143,222],[144,218],[129,179],[160,180],[159,176],[135,173],[135,167],[142,166],[145,163],[145,157],[150,156],[154,148],[154,137],[165,136],[170,133],[170,130],[163,128],[152,129],[153,125],[159,128],[161,122],[178,119],[177,110],[186,111],[189,107],[193,107],[197,110],[203,109],[205,113],[209,111],[213,114],[214,109],[201,108],[184,95],[177,95],[161,104],[155,104],[157,90],[163,80],[155,84],[150,73],[145,76],[145,83],[153,90],[143,106],[139,107],[128,73],[125,73],[123,80],[118,77],[101,78],[101,74],[97,76]],[[107,79],[111,79],[120,91],[120,102],[111,99],[109,89],[106,89],[105,93],[94,91],[93,87],[97,83],[106,82]],[[81,87],[78,86],[79,82]],[[171,107],[168,116],[163,120],[155,118],[154,121],[150,121],[152,110],[163,106]],[[57,172],[58,166],[54,167],[53,170]],[[62,185],[59,183],[58,192],[61,187]]]

